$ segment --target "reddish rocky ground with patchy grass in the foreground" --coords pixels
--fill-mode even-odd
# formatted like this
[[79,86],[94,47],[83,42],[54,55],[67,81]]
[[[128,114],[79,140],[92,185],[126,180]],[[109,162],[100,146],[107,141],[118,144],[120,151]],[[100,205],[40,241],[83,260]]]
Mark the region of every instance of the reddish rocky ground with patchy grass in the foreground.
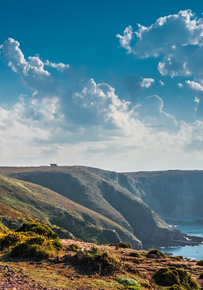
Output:
[[[61,240],[64,246],[77,244],[81,248],[89,249],[93,244],[75,242],[74,240]],[[166,259],[149,259],[144,257],[146,251],[137,251],[141,258],[130,257],[129,253],[134,250],[115,247],[97,246],[101,250],[113,251],[124,263],[122,273],[114,273],[109,277],[101,277],[98,273],[88,273],[77,265],[71,264],[68,258],[56,257],[48,261],[10,259],[6,255],[0,256],[0,289],[72,289],[72,290],[114,290],[126,289],[122,284],[115,281],[116,276],[127,276],[140,282],[142,289],[157,289],[151,278],[153,273],[164,266],[175,266],[187,270],[194,280],[202,288],[202,279],[199,279],[203,271],[202,266],[197,266],[196,261],[175,260],[167,256]],[[74,255],[67,252],[66,255]],[[67,256],[66,256],[67,257]]]

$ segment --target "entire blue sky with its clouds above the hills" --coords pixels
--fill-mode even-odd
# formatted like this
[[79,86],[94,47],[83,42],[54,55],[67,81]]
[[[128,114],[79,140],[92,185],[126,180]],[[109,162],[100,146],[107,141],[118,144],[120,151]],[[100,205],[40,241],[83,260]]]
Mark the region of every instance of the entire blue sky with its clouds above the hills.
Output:
[[202,1],[2,3],[1,166],[202,169],[202,12]]

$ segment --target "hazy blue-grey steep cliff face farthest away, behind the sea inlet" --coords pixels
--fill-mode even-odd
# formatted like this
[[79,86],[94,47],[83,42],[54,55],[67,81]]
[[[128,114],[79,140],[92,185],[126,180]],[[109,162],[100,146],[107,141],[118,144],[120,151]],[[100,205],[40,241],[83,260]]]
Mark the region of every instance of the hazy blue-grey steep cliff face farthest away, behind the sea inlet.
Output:
[[[143,185],[140,198],[157,214],[181,219],[203,217],[203,171],[168,170],[124,173],[136,195],[137,183]],[[131,181],[133,180],[133,182]],[[129,185],[128,185],[129,186]]]

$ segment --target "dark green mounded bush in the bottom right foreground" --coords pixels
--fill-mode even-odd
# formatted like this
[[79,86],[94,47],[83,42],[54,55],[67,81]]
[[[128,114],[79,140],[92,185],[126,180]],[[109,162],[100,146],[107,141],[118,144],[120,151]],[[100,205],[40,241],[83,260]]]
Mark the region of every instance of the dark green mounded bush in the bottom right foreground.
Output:
[[186,289],[199,289],[199,285],[195,282],[191,275],[186,271],[176,267],[160,268],[152,276],[156,283],[163,286],[173,286],[174,284],[182,285]]

